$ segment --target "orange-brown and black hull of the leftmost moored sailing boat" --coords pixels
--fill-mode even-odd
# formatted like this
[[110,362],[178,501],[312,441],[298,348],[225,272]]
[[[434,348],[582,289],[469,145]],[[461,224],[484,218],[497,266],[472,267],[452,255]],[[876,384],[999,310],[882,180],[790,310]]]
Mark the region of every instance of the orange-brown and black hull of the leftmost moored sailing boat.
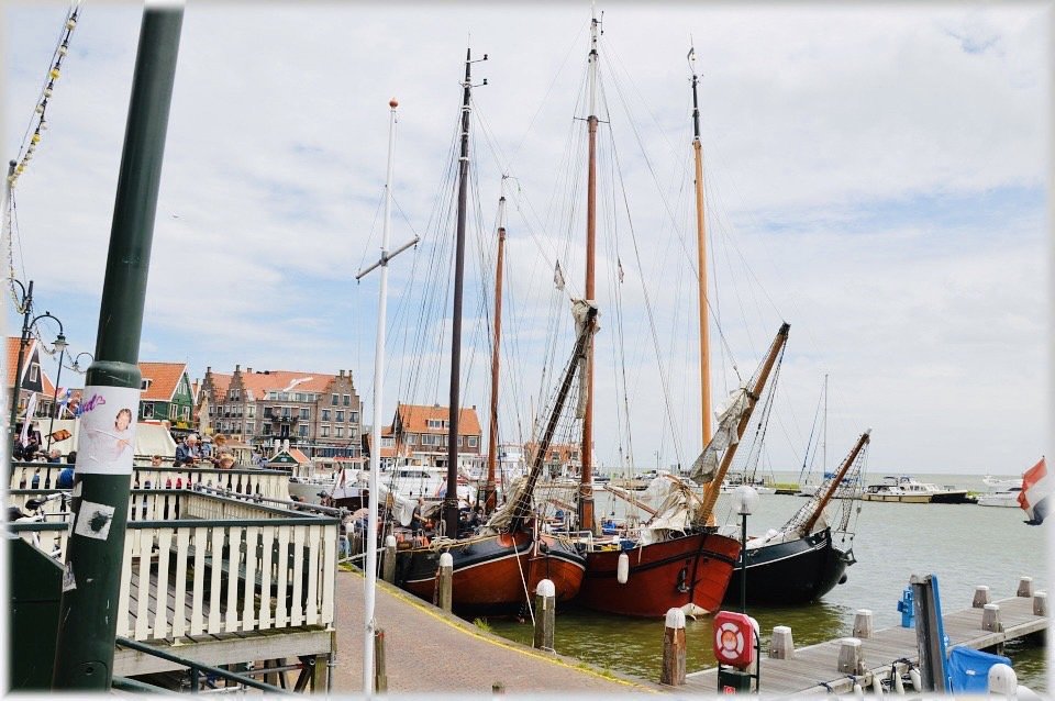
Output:
[[454,560],[452,609],[459,615],[517,614],[543,579],[553,582],[558,603],[568,601],[586,570],[586,558],[566,539],[543,535],[536,542],[518,532],[397,552],[396,583],[435,602],[442,553]]

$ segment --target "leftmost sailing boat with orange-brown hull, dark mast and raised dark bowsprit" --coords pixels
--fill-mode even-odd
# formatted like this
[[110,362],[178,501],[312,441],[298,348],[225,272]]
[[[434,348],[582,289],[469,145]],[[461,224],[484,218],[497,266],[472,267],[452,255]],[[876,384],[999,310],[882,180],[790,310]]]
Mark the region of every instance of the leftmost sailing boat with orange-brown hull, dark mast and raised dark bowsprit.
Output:
[[[486,58],[486,56],[485,56]],[[466,197],[469,166],[469,114],[471,96],[471,51],[466,52],[463,82],[460,157],[458,159],[458,208],[452,313],[451,419],[448,421],[447,483],[456,483],[458,414],[460,391],[462,288],[465,257]],[[436,591],[440,558],[449,554],[453,564],[452,609],[462,615],[517,613],[531,600],[542,579],[554,585],[556,600],[574,597],[582,580],[585,557],[567,537],[546,533],[536,515],[535,486],[542,476],[546,449],[571,389],[591,335],[597,310],[579,301],[574,313],[581,321],[581,331],[571,358],[553,400],[540,449],[536,450],[528,478],[510,499],[497,509],[479,530],[463,534],[455,494],[448,490],[443,501],[440,533],[431,542],[421,539],[407,549],[397,550],[396,583],[407,591],[432,600]],[[495,452],[493,448],[491,450]],[[493,464],[492,464],[493,465]],[[493,469],[493,468],[491,468]],[[489,471],[486,490],[495,483]]]

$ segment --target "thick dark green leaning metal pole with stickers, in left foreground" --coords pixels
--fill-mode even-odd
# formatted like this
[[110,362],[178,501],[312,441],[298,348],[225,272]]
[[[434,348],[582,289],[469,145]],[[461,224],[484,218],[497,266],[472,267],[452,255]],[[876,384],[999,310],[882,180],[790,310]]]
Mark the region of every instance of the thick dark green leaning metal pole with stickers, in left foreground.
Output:
[[85,377],[54,689],[113,678],[141,375],[140,334],[182,5],[147,3],[132,79],[95,360]]

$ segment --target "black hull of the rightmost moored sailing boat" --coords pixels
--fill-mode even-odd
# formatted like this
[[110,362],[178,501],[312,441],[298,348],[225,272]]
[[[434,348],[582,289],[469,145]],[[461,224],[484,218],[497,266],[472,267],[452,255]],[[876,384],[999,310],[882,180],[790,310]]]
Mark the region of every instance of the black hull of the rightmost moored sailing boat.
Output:
[[[815,601],[831,591],[853,561],[834,546],[831,531],[824,528],[809,537],[747,549],[747,603],[771,605]],[[725,590],[725,602],[738,604],[740,567]]]

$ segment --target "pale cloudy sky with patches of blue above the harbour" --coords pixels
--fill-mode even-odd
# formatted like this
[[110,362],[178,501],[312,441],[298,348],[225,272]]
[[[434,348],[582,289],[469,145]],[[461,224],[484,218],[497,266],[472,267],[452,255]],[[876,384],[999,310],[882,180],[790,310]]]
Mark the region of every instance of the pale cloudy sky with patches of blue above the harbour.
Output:
[[[4,160],[67,8],[4,7]],[[1050,7],[597,11],[598,463],[688,464],[701,447],[691,42],[714,402],[787,321],[769,469],[798,471],[808,445],[818,449],[825,376],[828,467],[869,427],[873,474],[1032,466],[1051,425]],[[488,58],[471,65],[462,398],[486,424],[504,193],[500,426],[504,439],[524,436],[570,352],[569,300],[584,289],[590,12],[588,2],[191,2],[141,359],[186,361],[192,378],[235,364],[351,369],[371,411],[378,274],[354,278],[380,247],[395,97],[391,245],[422,243],[391,265],[382,415],[397,399],[445,404],[468,46]],[[137,4],[82,5],[49,129],[14,194],[15,275],[35,281],[36,309],[63,321],[75,354],[95,350],[141,16]],[[7,323],[18,329],[10,303]]]

